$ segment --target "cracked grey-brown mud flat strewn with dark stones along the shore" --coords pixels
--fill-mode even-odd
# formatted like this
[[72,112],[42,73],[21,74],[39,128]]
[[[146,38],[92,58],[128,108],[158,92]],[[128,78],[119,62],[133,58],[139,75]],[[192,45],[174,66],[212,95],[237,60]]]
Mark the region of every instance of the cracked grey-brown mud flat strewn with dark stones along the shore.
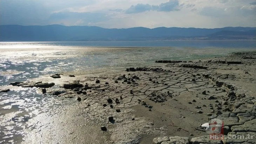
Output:
[[256,52],[241,52],[189,62],[160,60],[166,64],[97,77],[57,74],[3,88],[38,87],[45,96],[75,101],[28,120],[35,128],[26,131],[23,143],[255,144],[256,137],[210,140],[195,129],[218,118],[226,135],[256,135],[255,58]]

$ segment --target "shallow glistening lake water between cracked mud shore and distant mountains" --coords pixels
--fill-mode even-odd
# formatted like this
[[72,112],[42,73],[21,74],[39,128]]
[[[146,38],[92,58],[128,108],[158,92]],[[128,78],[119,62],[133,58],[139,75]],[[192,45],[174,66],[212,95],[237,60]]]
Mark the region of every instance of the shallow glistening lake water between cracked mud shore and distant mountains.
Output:
[[[155,60],[196,60],[252,50],[255,41],[1,42],[0,87],[45,74],[121,71],[153,65]],[[16,87],[0,93],[0,143],[20,143],[27,129],[36,127],[27,123],[30,119],[53,110],[59,113],[60,107],[76,102],[37,91]]]

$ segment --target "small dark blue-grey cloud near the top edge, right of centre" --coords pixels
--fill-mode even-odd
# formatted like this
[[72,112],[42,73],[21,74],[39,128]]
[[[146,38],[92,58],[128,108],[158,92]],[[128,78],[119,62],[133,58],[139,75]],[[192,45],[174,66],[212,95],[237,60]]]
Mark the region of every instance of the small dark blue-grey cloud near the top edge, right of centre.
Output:
[[167,2],[161,3],[160,5],[149,5],[149,4],[142,4],[139,3],[137,5],[132,5],[128,8],[125,13],[132,14],[132,13],[142,13],[146,11],[158,11],[158,12],[170,12],[170,11],[178,11],[177,8],[179,6],[178,0],[169,0]]

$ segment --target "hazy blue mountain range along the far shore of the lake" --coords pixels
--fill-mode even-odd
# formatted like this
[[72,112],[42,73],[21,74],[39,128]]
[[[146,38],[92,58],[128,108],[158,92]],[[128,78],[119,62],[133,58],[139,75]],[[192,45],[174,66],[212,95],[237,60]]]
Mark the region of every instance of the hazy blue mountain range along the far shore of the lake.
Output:
[[256,28],[127,28],[1,25],[0,41],[129,41],[166,39],[256,39]]

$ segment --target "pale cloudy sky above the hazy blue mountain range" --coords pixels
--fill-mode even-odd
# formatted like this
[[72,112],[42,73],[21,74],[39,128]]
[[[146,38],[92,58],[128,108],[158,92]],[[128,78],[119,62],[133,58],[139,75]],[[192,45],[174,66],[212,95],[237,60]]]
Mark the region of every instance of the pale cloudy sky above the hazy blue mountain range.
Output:
[[0,25],[256,27],[256,0],[0,0]]

